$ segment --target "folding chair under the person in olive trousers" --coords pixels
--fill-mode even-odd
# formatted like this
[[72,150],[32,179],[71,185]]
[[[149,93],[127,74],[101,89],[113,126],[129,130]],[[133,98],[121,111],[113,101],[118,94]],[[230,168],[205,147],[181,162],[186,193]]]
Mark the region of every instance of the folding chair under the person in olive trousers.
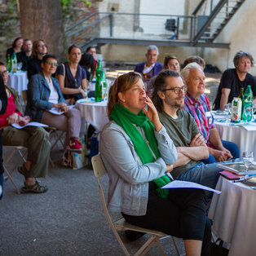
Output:
[[9,156],[7,157],[7,160],[3,161],[2,163],[2,166],[3,166],[3,169],[4,169],[4,172],[7,174],[7,176],[5,176],[5,180],[7,179],[10,179],[11,180],[11,183],[13,184],[13,186],[15,187],[16,191],[18,194],[20,194],[20,189],[18,188],[18,186],[15,184],[14,180],[12,179],[11,177],[11,174],[14,172],[15,169],[17,169],[17,165],[14,166],[14,168],[9,171],[7,170],[7,164],[11,161],[11,158],[15,155],[15,153],[17,152],[18,155],[20,156],[21,160],[23,162],[26,161],[25,159],[25,156],[24,156],[24,153],[22,152],[23,149],[26,149],[22,146],[7,146],[7,145],[2,145],[2,149],[11,149],[12,148],[12,151],[11,153],[9,154]]

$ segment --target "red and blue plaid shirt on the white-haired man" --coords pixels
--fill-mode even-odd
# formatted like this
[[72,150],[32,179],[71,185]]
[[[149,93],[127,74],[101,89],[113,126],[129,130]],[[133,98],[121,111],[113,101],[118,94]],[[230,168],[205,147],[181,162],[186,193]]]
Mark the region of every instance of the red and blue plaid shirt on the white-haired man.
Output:
[[195,118],[198,130],[208,142],[210,129],[215,127],[214,117],[210,113],[209,99],[205,95],[201,95],[196,100],[187,92],[183,108]]

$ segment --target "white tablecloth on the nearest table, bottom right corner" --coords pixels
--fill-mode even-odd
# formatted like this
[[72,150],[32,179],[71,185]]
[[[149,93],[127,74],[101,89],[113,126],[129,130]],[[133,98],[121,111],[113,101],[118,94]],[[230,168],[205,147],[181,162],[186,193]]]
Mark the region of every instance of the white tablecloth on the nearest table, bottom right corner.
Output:
[[222,176],[215,189],[222,193],[214,194],[208,214],[214,234],[230,243],[229,256],[256,255],[256,190]]

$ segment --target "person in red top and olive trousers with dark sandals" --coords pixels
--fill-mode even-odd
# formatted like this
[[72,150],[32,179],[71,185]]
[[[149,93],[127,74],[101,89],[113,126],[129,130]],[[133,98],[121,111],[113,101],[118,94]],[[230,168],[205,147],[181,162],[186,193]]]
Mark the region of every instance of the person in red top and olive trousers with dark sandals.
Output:
[[[0,63],[0,72],[7,72],[7,67]],[[2,129],[2,143],[9,146],[23,146],[28,148],[28,157],[23,166],[18,168],[24,175],[24,187],[21,192],[43,193],[48,188],[38,183],[36,178],[46,177],[50,156],[51,143],[49,134],[42,127],[26,126],[16,129],[11,124],[26,125],[29,117],[23,117],[18,93],[7,86],[8,76],[2,77],[7,92],[7,111],[0,115],[0,128]]]

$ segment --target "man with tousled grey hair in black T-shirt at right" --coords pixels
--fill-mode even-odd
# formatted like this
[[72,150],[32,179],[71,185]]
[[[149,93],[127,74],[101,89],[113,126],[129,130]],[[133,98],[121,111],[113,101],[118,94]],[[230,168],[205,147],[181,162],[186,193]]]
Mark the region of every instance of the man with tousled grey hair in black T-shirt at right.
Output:
[[254,64],[254,58],[249,52],[238,51],[234,57],[235,68],[228,68],[224,71],[218,86],[218,93],[214,100],[214,109],[224,110],[224,105],[232,102],[234,97],[240,94],[241,88],[246,90],[251,86],[254,99],[256,98],[256,78],[249,72],[251,65]]

